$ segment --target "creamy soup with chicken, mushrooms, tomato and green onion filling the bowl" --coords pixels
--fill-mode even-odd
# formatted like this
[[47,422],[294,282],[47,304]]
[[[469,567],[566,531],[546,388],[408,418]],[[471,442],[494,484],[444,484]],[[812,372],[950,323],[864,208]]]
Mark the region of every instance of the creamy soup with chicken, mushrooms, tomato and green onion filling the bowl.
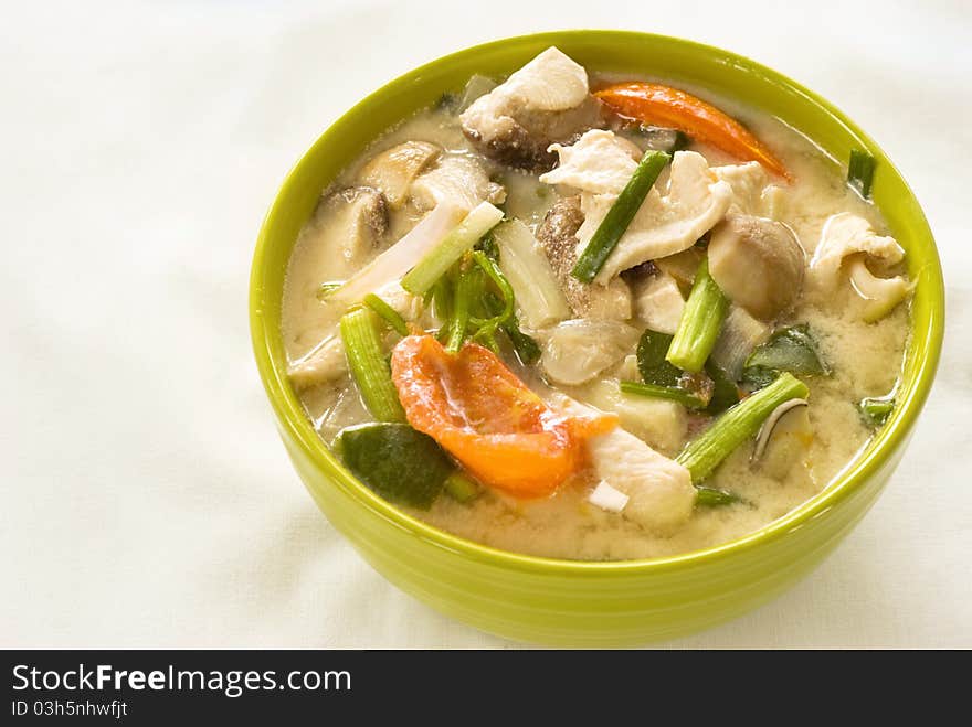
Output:
[[892,410],[905,253],[873,159],[549,49],[389,129],[288,264],[290,381],[369,488],[572,559],[742,536]]

